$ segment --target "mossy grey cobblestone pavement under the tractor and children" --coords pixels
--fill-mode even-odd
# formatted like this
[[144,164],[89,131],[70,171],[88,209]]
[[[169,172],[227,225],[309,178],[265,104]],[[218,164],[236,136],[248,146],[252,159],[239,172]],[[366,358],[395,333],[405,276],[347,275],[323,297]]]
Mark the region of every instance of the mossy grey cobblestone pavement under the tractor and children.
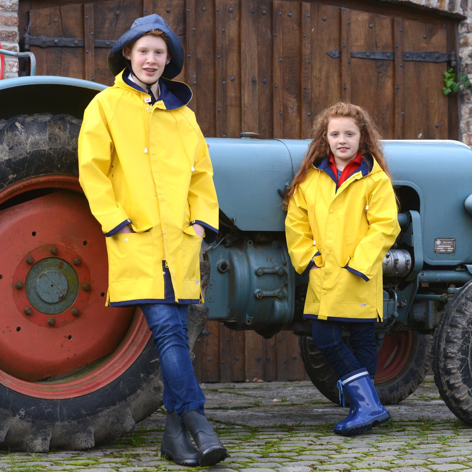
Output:
[[[392,421],[353,438],[333,434],[333,424],[347,410],[329,403],[309,382],[207,384],[203,389],[207,414],[230,454],[209,471],[472,472],[472,428],[447,409],[430,376],[407,400],[389,407]],[[201,469],[160,458],[164,419],[158,411],[132,433],[89,451],[0,451],[0,471]]]

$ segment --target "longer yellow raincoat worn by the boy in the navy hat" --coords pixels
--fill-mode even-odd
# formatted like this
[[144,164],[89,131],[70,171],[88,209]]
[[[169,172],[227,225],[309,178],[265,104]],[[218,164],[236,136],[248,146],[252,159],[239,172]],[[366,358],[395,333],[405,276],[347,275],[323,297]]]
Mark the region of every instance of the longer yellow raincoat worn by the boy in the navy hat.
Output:
[[[163,78],[159,84],[151,106],[150,96],[120,72],[84,113],[79,180],[108,236],[107,306],[203,301],[202,237],[192,224],[206,226],[205,241],[218,234],[210,155],[185,106],[188,86]],[[135,233],[115,234],[128,223]]]

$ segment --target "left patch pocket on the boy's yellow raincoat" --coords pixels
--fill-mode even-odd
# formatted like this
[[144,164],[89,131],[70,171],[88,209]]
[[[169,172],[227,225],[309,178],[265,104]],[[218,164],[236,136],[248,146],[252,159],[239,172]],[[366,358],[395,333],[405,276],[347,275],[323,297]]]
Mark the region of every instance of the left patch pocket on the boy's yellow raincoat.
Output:
[[152,278],[152,234],[123,233],[106,238],[110,282]]

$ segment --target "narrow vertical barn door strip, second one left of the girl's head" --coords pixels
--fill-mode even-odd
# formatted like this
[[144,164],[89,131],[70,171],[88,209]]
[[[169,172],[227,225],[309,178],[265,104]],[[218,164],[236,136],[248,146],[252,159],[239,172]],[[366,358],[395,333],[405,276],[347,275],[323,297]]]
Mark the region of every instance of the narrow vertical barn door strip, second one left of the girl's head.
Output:
[[272,74],[274,83],[273,93],[273,137],[284,137],[283,113],[283,76],[282,76],[282,1],[274,0],[272,3],[272,24],[274,29]]

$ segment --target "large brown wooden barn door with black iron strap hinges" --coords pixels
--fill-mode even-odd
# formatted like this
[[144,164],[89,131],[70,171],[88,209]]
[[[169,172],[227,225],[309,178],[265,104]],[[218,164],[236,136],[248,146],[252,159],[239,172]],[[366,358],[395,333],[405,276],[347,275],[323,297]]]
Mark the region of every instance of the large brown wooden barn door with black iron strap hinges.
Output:
[[[387,139],[459,137],[457,96],[442,93],[456,50],[447,17],[371,0],[19,1],[39,75],[108,85],[114,41],[136,17],[164,17],[184,45],[177,80],[192,87],[205,136],[309,138],[314,116],[346,100]],[[306,379],[291,333],[267,340],[211,321],[194,351],[204,382]]]

